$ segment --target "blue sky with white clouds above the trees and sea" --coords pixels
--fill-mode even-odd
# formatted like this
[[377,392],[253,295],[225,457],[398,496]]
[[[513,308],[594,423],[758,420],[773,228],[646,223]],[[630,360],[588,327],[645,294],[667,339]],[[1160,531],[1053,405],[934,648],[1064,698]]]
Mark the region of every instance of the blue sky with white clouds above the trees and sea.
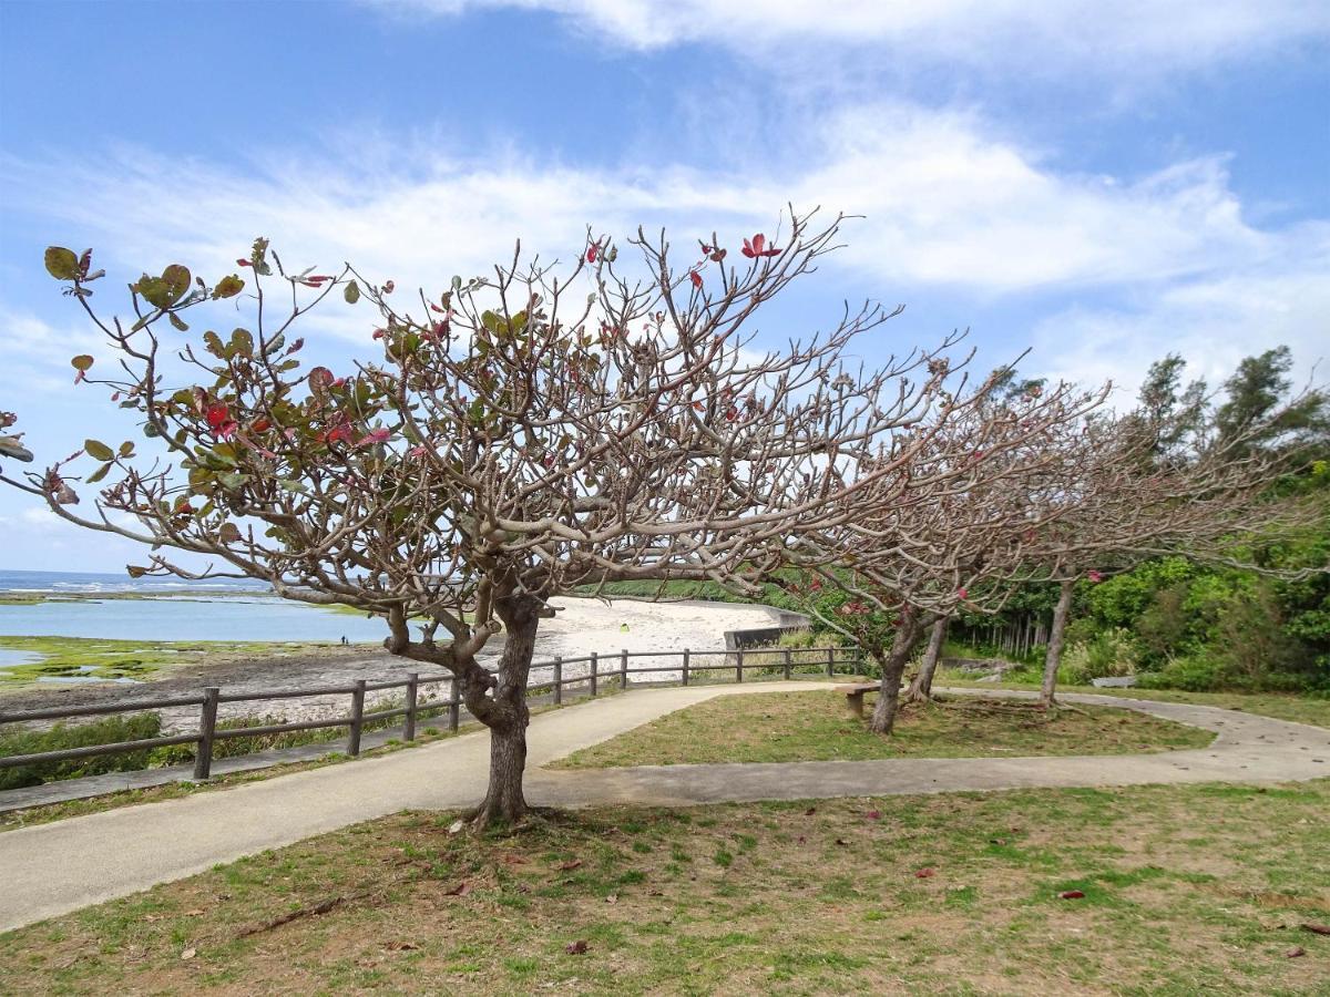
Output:
[[[1318,376],[1330,4],[0,0],[0,409],[43,467],[136,435],[72,384],[110,354],[48,245],[94,249],[113,311],[258,235],[438,291],[519,238],[567,259],[588,227],[665,229],[686,263],[790,205],[859,218],[759,343],[875,299],[907,307],[868,363],[968,328],[980,367],[1031,350],[1028,376],[1123,404],[1169,352],[1220,384],[1287,344]],[[310,354],[344,367],[371,331],[315,318]],[[134,560],[0,488],[0,569]]]

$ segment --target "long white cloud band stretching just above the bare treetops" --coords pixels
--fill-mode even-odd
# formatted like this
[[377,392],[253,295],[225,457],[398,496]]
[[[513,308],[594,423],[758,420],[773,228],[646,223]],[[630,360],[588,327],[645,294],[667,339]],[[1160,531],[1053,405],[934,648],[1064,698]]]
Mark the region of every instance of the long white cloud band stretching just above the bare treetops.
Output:
[[[567,257],[587,223],[620,238],[664,225],[686,257],[692,239],[713,229],[732,242],[771,231],[791,201],[867,215],[847,230],[842,265],[888,288],[1001,294],[1158,282],[1278,249],[1244,219],[1221,158],[1134,181],[1067,174],[974,116],[900,105],[841,113],[791,152],[781,164],[729,173],[519,157],[495,167],[431,150],[396,167],[371,150],[362,162],[270,161],[251,175],[132,150],[73,177],[44,162],[11,161],[0,171],[11,198],[55,205],[45,210],[121,263],[181,258],[221,275],[265,234],[289,262],[331,267],[351,258],[404,287],[442,288],[454,273],[487,271],[511,257],[519,235],[528,250]],[[55,195],[69,185],[82,195]]]

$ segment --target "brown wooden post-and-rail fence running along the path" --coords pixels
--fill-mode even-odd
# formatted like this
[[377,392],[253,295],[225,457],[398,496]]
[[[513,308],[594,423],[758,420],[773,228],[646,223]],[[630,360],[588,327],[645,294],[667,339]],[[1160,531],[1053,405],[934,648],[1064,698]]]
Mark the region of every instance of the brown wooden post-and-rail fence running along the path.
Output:
[[[674,665],[653,665],[633,667],[634,658],[678,658]],[[710,662],[712,658],[721,658],[720,663]],[[798,659],[797,659],[798,658]],[[701,659],[701,661],[700,661]],[[862,667],[859,654],[846,647],[779,647],[779,649],[739,649],[730,651],[641,651],[626,650],[612,655],[588,654],[581,658],[556,657],[551,661],[532,662],[532,671],[548,669],[551,678],[544,682],[532,682],[527,686],[527,695],[540,697],[549,694],[553,703],[563,703],[565,690],[583,690],[585,698],[600,694],[601,683],[605,679],[616,682],[620,689],[628,689],[633,675],[662,675],[677,674],[678,679],[646,679],[638,685],[692,685],[698,673],[733,673],[734,682],[743,681],[743,673],[757,673],[770,678],[791,678],[795,669],[807,670],[817,667],[825,671],[829,678],[835,677],[838,670],[857,673]],[[568,675],[568,666],[585,666],[579,674]],[[448,683],[448,697],[446,699],[422,701],[420,690],[430,686]],[[380,693],[392,689],[402,689],[406,693],[406,706],[370,710],[364,709],[367,693]],[[295,699],[315,695],[348,695],[351,698],[351,711],[346,717],[335,717],[318,720],[298,720],[293,723],[270,723],[251,727],[219,727],[217,723],[217,709],[221,703],[265,702],[273,699]],[[408,673],[404,679],[388,682],[367,682],[356,679],[348,686],[314,686],[311,689],[277,689],[261,693],[223,693],[219,686],[209,686],[201,694],[188,697],[162,697],[158,699],[126,699],[118,703],[98,703],[94,706],[73,706],[49,710],[16,710],[0,711],[0,723],[28,723],[33,720],[61,720],[77,717],[105,717],[117,713],[145,713],[168,707],[198,706],[198,731],[194,734],[176,734],[161,738],[146,738],[142,740],[122,740],[112,744],[90,744],[86,747],[65,748],[61,751],[43,751],[31,755],[8,755],[0,758],[0,768],[13,768],[17,766],[36,764],[41,762],[64,762],[76,758],[94,758],[97,755],[113,755],[126,751],[142,751],[156,747],[169,747],[176,744],[194,744],[194,779],[202,780],[211,775],[214,744],[218,740],[230,738],[251,738],[270,734],[286,734],[291,731],[321,730],[327,727],[347,728],[347,754],[351,756],[360,754],[360,736],[364,724],[374,720],[386,720],[395,717],[404,718],[403,735],[407,740],[415,740],[416,723],[426,714],[435,714],[447,710],[447,724],[450,731],[456,731],[462,724],[463,702],[458,690],[458,682],[452,675],[420,675]]]

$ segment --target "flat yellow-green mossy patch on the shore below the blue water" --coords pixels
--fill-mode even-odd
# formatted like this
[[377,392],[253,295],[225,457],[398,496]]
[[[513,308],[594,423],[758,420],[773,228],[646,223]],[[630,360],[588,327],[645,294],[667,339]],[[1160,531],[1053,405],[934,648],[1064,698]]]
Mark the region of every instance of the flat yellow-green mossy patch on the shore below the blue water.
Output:
[[39,661],[0,666],[0,690],[31,687],[41,678],[86,675],[148,681],[180,665],[278,657],[330,645],[266,641],[109,641],[97,637],[0,637],[0,647],[39,654]]

